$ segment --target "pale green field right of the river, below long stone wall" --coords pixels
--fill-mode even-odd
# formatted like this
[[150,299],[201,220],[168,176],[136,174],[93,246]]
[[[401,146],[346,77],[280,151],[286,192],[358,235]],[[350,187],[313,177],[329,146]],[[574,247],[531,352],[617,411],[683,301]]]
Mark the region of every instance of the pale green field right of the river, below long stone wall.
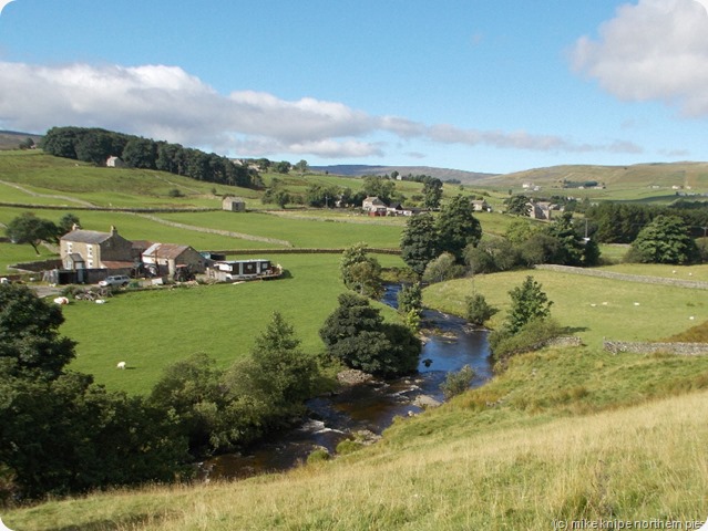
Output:
[[[696,269],[697,278],[706,274],[708,269],[705,268],[701,266]],[[592,346],[601,346],[605,337],[618,341],[659,341],[708,321],[706,290],[543,270],[475,275],[432,284],[423,291],[423,302],[427,306],[463,315],[465,298],[474,292],[482,293],[490,304],[501,310],[491,321],[492,327],[497,327],[511,304],[509,291],[520,285],[526,275],[538,281],[553,301],[552,316]],[[684,278],[687,279],[687,274]]]

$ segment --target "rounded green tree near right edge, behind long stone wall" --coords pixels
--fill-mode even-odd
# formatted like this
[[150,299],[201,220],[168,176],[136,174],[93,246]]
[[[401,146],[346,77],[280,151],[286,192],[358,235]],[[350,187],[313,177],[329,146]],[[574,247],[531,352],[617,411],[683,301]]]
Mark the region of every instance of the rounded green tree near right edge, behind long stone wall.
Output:
[[657,216],[632,243],[629,258],[645,263],[690,263],[698,260],[696,241],[675,216]]

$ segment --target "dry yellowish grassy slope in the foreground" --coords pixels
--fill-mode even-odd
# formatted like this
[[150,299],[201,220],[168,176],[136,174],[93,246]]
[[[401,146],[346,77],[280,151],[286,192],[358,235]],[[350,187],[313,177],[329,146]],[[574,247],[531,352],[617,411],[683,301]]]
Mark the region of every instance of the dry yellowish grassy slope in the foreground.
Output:
[[18,530],[94,531],[695,522],[708,516],[706,388],[707,358],[547,351],[516,358],[485,387],[397,421],[382,442],[331,462],[50,501],[3,521]]

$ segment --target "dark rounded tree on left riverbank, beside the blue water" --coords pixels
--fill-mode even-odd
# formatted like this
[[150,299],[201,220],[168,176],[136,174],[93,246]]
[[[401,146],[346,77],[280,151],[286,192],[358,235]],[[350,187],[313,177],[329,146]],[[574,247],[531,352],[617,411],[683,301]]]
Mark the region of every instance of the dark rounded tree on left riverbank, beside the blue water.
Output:
[[353,293],[339,295],[319,335],[328,354],[352,368],[390,377],[418,367],[420,340],[407,326],[384,323],[367,299]]

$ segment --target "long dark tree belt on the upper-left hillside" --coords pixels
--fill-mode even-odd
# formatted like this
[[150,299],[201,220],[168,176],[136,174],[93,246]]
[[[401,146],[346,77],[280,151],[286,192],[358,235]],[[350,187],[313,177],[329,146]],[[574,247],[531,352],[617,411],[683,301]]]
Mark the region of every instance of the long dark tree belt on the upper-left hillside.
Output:
[[263,185],[257,171],[227,157],[95,127],[52,127],[42,138],[41,147],[50,155],[96,166],[105,166],[107,158],[115,156],[131,168],[158,169],[220,185],[247,188]]

